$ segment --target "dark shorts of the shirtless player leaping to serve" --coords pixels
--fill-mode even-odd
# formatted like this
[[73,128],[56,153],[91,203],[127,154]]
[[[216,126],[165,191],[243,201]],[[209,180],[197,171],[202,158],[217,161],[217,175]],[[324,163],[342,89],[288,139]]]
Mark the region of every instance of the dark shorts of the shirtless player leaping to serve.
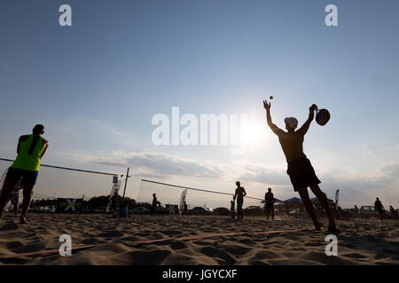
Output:
[[290,176],[295,192],[300,188],[306,188],[321,183],[308,158],[290,161],[286,173]]

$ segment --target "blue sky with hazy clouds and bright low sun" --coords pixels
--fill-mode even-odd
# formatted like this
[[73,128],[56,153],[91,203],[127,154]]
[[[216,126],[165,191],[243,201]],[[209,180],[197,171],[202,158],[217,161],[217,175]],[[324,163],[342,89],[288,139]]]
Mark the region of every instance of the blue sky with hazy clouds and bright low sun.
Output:
[[[72,7],[72,27],[59,26],[61,4]],[[325,26],[327,4],[337,5],[339,27]],[[43,123],[45,164],[129,166],[137,178],[224,191],[241,180],[250,195],[270,186],[285,199],[294,195],[286,161],[262,108],[273,95],[281,127],[287,116],[303,122],[311,103],[332,113],[304,143],[327,195],[340,188],[347,207],[375,196],[399,206],[398,9],[395,0],[2,1],[0,157],[15,157],[19,135]],[[242,156],[154,146],[153,115],[173,106],[247,114],[258,135]],[[63,174],[43,172],[36,191],[110,190],[101,177],[72,186]],[[140,197],[138,184],[130,196]]]

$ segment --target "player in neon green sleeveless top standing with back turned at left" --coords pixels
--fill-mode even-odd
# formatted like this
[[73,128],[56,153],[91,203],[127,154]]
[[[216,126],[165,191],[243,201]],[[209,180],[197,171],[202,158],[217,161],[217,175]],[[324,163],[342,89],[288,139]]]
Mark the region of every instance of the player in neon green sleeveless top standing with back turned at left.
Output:
[[20,181],[23,188],[22,213],[20,223],[27,224],[27,210],[32,201],[32,191],[39,174],[40,161],[46,152],[49,142],[43,139],[44,126],[36,125],[32,134],[21,135],[17,146],[17,158],[8,169],[0,195],[0,219],[15,185]]

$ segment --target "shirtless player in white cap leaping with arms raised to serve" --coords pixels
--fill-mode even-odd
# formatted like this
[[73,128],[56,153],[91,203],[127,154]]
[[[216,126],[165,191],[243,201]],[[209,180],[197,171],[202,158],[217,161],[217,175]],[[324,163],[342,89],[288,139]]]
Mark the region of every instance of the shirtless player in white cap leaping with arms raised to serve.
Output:
[[309,214],[309,217],[312,219],[316,230],[319,231],[321,224],[317,220],[315,211],[313,210],[313,205],[309,198],[308,187],[310,187],[327,214],[329,221],[328,232],[339,233],[340,230],[335,226],[335,221],[327,202],[327,196],[320,187],[318,187],[318,184],[321,182],[318,180],[309,159],[303,153],[303,138],[308,132],[310,123],[315,116],[317,105],[312,104],[309,107],[309,118],[297,131],[295,131],[295,128],[298,126],[298,120],[293,117],[286,118],[285,122],[287,132],[272,123],[270,106],[271,103],[267,103],[266,100],[263,101],[263,107],[266,110],[267,123],[270,126],[271,131],[278,135],[278,141],[280,142],[281,148],[286,156],[286,162],[288,164],[287,174],[293,184],[293,190],[297,191],[301,196],[301,200]]

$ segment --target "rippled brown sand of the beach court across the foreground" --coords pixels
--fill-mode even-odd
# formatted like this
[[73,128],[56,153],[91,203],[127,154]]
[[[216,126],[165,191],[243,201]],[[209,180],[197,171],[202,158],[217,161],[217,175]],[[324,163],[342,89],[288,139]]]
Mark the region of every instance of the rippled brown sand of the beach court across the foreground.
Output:
[[[30,214],[29,224],[6,214],[0,227],[0,264],[399,264],[399,221],[339,221],[338,256],[325,255],[325,231],[312,231],[309,220],[103,214]],[[325,222],[325,221],[324,221]],[[280,231],[268,235],[261,232]],[[281,232],[285,231],[285,232]],[[173,240],[211,233],[241,233],[207,239]],[[69,234],[72,248],[97,247],[42,256],[4,258],[12,254],[59,249]],[[194,237],[195,238],[195,237]],[[137,244],[140,241],[165,240]]]

